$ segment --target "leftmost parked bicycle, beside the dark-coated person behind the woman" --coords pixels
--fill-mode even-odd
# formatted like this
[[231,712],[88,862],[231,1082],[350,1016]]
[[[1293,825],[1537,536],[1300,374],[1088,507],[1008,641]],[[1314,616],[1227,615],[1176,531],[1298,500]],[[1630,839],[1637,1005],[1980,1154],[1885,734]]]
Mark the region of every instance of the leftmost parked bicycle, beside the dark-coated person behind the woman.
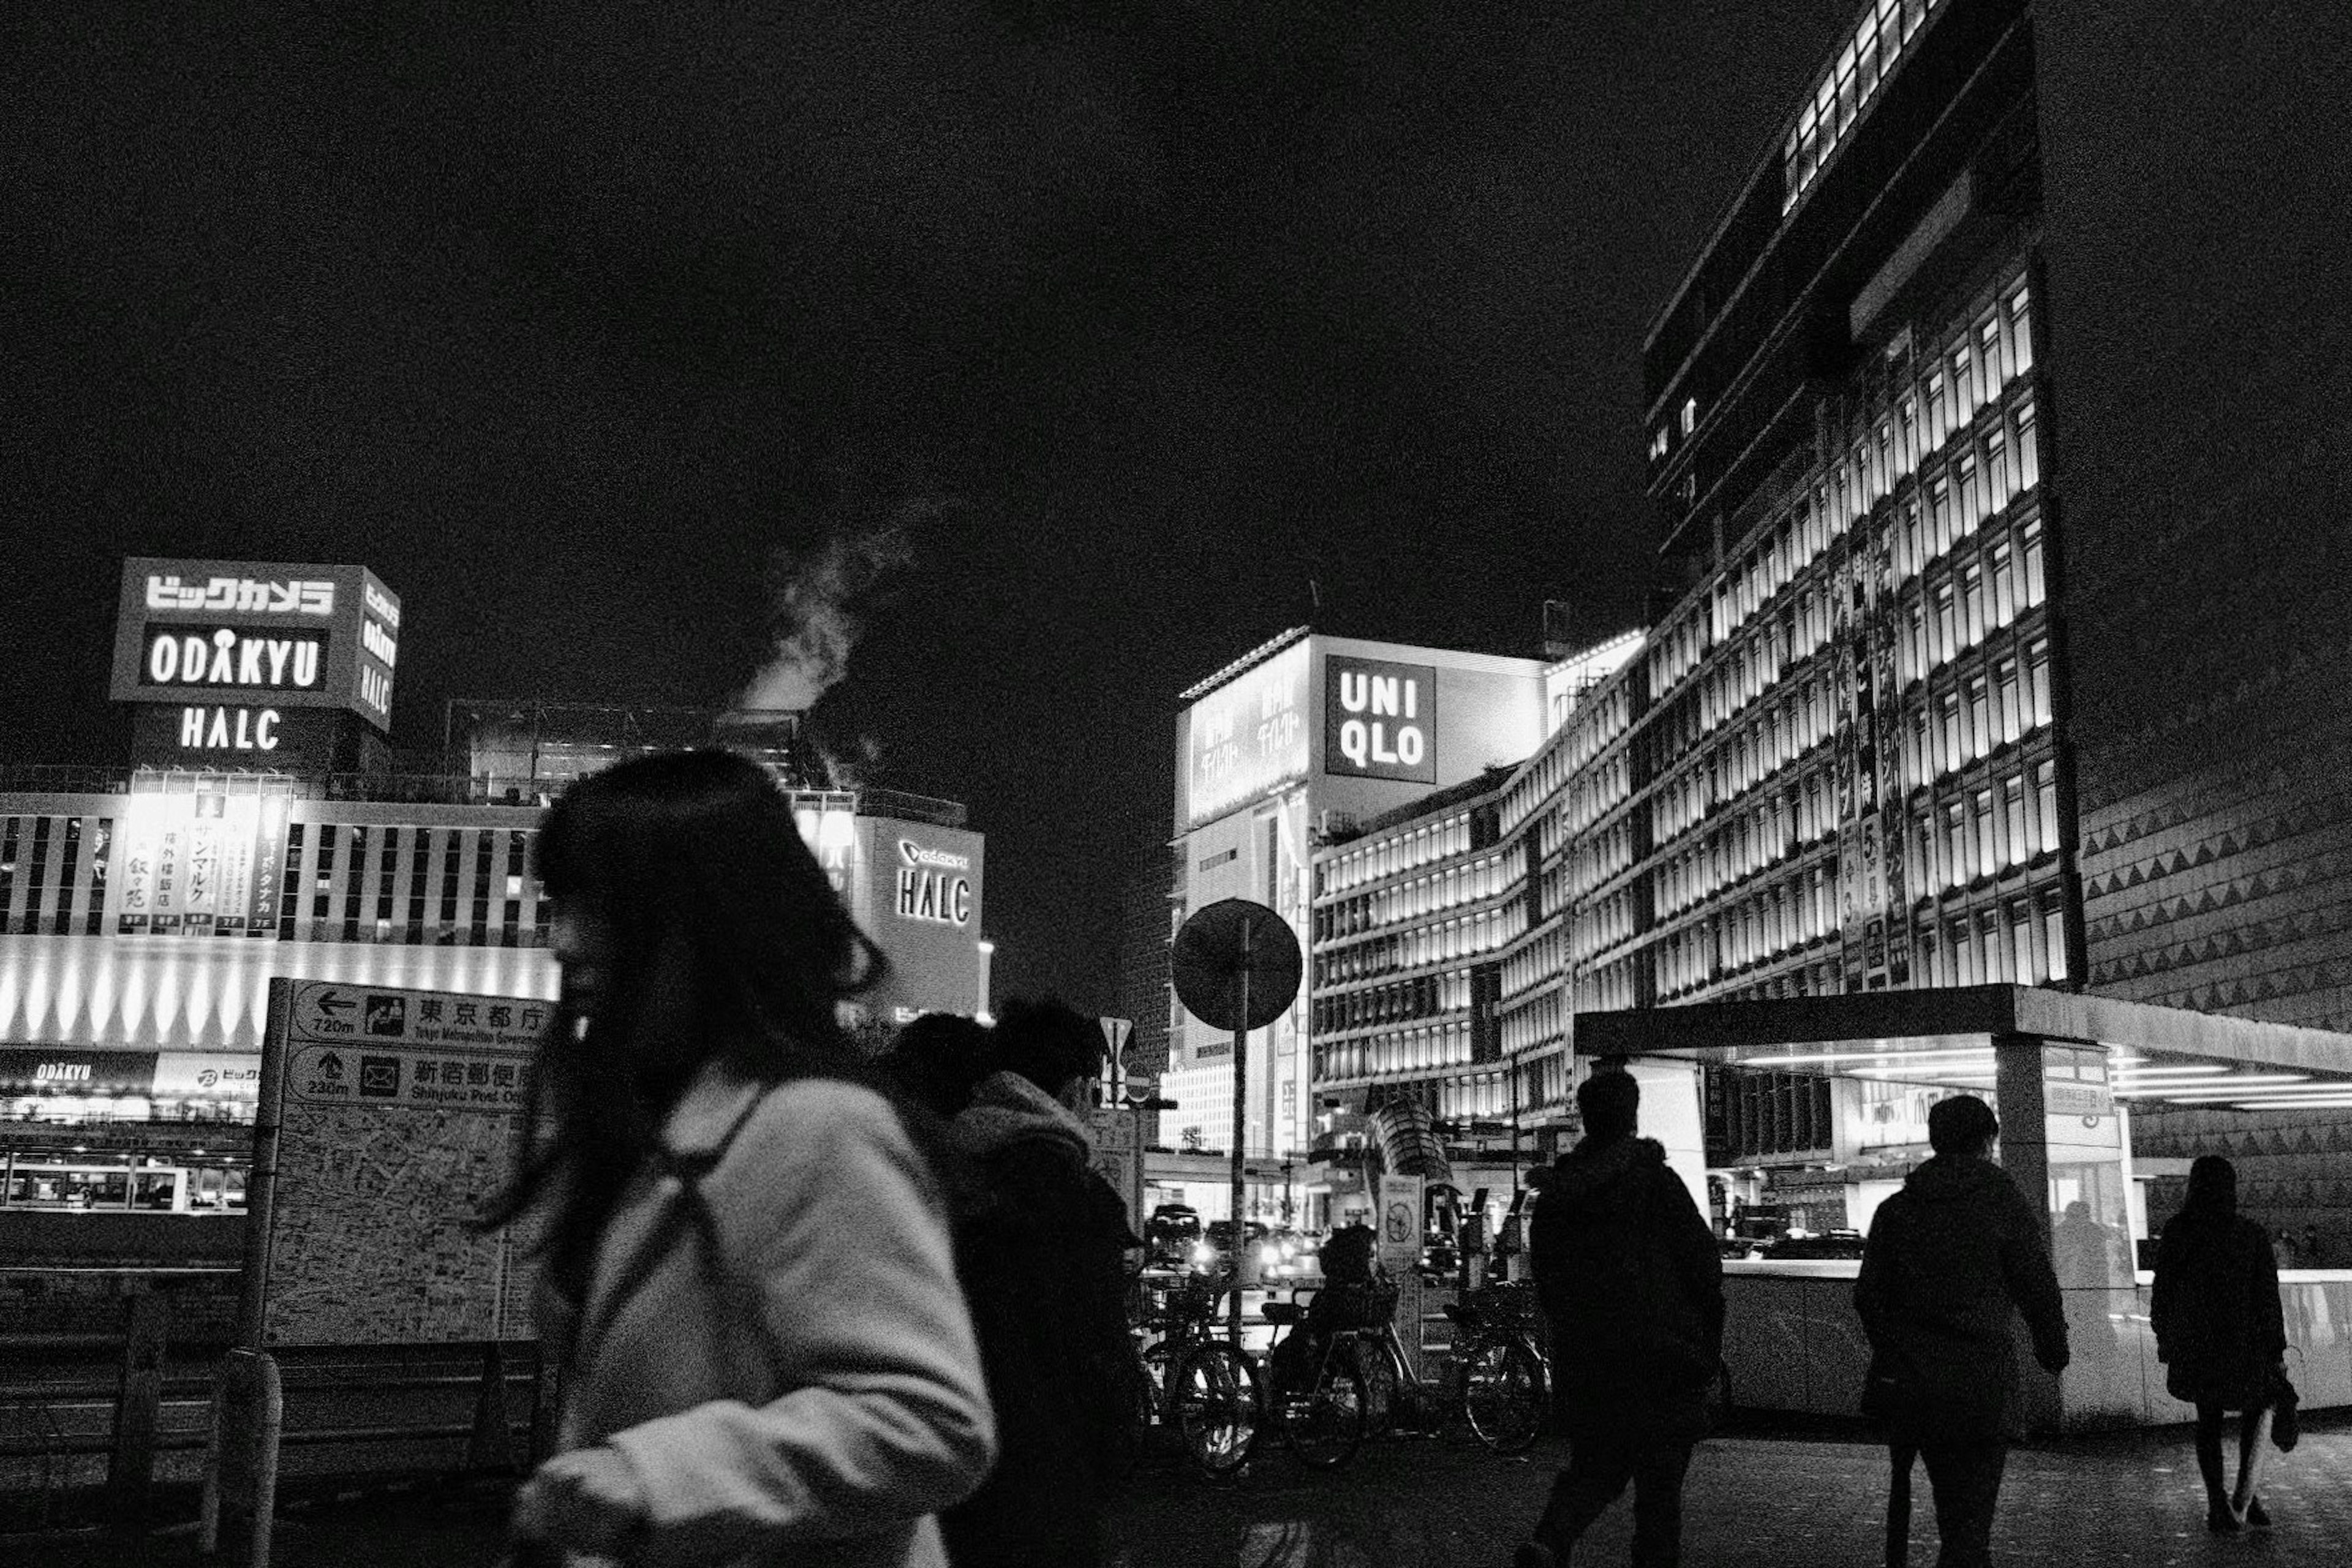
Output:
[[1218,1307],[1232,1286],[1200,1274],[1157,1291],[1150,1284],[1138,1276],[1138,1295],[1148,1302],[1138,1328],[1157,1338],[1134,1342],[1134,1448],[1141,1450],[1152,1429],[1174,1427],[1192,1465],[1225,1479],[1249,1462],[1258,1439],[1256,1368],[1218,1338]]

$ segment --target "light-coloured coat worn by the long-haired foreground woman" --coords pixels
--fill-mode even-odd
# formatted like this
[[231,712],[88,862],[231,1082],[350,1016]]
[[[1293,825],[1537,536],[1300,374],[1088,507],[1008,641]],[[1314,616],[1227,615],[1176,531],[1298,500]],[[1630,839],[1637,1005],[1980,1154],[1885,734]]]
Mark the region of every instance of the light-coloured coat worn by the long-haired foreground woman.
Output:
[[710,1065],[663,1145],[564,1335],[562,1448],[609,1443],[652,1500],[630,1563],[943,1568],[931,1514],[988,1474],[995,1427],[896,1112]]

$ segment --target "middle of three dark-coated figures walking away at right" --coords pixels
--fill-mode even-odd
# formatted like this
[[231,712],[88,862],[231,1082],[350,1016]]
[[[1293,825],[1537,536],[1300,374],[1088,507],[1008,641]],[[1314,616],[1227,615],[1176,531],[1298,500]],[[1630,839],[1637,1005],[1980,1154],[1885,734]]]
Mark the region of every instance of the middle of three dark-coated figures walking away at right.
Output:
[[1886,1422],[1898,1507],[1910,1497],[1912,1458],[1926,1460],[1940,1568],[1992,1561],[1992,1512],[2020,1427],[2011,1312],[2025,1316],[2044,1371],[2067,1363],[2044,1215],[1992,1164],[1999,1133],[1992,1107],[1976,1095],[1929,1110],[1933,1157],[1879,1204],[1853,1284],[1853,1309],[1870,1338],[1865,1408]]

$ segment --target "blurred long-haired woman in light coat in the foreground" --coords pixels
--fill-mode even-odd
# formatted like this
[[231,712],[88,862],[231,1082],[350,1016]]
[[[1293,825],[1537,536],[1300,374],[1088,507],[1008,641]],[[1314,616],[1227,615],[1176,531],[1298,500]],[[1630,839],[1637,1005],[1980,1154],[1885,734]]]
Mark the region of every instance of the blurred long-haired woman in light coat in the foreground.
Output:
[[927,1159],[835,1006],[882,957],[769,776],[623,762],[548,811],[562,999],[487,1222],[541,1237],[532,1556],[941,1568],[995,1448]]

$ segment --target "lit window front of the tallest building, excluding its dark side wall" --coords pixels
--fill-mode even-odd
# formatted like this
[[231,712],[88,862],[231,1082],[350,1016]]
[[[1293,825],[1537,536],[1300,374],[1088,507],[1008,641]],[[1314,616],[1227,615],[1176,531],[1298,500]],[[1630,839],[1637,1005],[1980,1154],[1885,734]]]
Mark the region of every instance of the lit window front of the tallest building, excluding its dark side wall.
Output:
[[[2018,0],[1875,0],[1644,346],[1630,1006],[2084,973]],[[1823,1079],[1710,1074],[1719,1161]]]

